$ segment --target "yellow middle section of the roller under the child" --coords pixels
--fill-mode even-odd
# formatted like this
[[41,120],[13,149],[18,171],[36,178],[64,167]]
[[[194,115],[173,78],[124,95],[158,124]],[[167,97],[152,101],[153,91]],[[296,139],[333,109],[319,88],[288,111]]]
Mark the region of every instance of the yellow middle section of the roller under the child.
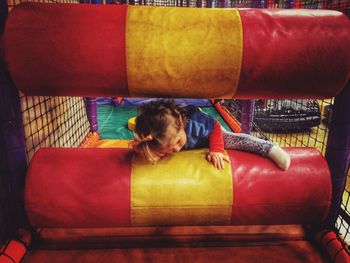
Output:
[[206,161],[206,153],[205,149],[181,151],[157,164],[134,157],[132,225],[230,224],[230,165],[218,170]]

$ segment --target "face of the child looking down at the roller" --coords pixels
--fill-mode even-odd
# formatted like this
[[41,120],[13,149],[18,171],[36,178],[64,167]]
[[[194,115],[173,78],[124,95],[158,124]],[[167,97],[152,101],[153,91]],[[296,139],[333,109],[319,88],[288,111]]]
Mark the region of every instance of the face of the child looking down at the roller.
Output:
[[169,125],[166,132],[164,146],[155,152],[159,157],[180,151],[186,144],[186,132],[184,128],[178,129],[174,125]]

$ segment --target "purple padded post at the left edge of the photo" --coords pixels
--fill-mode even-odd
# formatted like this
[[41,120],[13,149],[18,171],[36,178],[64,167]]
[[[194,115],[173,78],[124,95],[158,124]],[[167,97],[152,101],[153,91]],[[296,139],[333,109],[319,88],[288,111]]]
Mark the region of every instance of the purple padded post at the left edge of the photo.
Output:
[[[26,225],[23,206],[24,178],[27,169],[24,129],[18,90],[9,79],[5,67],[0,63],[0,176],[7,202],[2,204],[9,213],[6,231]],[[2,191],[3,189],[1,189]],[[1,200],[3,202],[3,200]],[[4,215],[5,216],[5,215]]]

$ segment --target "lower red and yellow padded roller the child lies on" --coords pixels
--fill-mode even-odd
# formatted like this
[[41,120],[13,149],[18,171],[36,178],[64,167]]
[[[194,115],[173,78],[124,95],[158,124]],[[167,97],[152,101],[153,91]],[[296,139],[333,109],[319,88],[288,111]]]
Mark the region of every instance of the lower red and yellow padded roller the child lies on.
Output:
[[286,148],[288,171],[269,159],[227,151],[223,171],[182,151],[145,164],[128,149],[40,149],[30,164],[25,204],[36,227],[317,223],[331,203],[321,154]]

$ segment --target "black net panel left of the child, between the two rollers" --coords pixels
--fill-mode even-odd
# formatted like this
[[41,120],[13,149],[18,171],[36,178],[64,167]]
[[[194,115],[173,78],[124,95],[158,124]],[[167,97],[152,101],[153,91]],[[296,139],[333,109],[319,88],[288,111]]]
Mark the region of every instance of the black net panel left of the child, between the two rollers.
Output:
[[21,96],[27,160],[41,147],[78,147],[90,125],[81,98]]

